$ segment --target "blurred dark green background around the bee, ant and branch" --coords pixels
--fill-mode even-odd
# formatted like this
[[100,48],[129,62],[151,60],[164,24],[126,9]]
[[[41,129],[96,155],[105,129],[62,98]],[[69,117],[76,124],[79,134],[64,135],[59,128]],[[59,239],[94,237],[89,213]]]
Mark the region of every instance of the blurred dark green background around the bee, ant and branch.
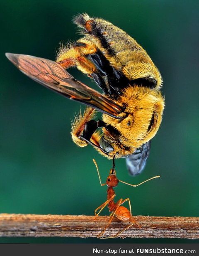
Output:
[[[70,123],[80,104],[53,93],[19,72],[5,52],[55,59],[61,40],[78,39],[73,15],[87,12],[120,27],[158,66],[166,108],[145,171],[130,177],[116,160],[116,199],[129,197],[134,215],[198,216],[198,1],[40,0],[0,1],[0,212],[88,214],[106,200],[99,185],[112,165],[91,146],[78,148]],[[75,69],[76,79],[97,88]],[[84,106],[81,106],[84,108]],[[104,214],[108,214],[105,210]],[[28,243],[189,243],[180,239],[0,238]]]

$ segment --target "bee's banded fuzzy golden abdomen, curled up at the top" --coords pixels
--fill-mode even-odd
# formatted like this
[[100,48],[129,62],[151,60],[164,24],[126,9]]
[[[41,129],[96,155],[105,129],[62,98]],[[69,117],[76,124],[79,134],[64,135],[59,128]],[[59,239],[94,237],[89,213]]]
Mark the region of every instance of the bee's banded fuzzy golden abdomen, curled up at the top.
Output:
[[160,72],[146,51],[126,32],[111,22],[91,18],[87,14],[75,17],[75,23],[84,28],[85,36],[97,45],[109,64],[128,80],[142,79],[141,85],[150,88],[162,84]]

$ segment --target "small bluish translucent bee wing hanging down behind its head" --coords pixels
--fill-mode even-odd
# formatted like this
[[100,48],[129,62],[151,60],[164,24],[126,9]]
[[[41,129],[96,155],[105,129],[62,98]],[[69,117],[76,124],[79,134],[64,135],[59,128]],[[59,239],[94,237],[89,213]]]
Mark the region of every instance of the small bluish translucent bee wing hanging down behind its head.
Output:
[[146,160],[149,156],[150,141],[143,144],[141,148],[126,158],[126,167],[129,170],[130,175],[136,176],[140,174],[146,165]]

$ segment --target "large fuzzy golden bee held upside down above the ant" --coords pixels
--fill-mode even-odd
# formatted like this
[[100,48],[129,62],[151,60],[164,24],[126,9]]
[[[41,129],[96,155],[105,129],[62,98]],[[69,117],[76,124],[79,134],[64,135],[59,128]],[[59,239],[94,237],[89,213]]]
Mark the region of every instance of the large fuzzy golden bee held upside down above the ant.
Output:
[[[56,62],[7,53],[35,81],[88,107],[72,123],[73,141],[91,144],[112,159],[126,158],[131,175],[142,172],[164,110],[163,79],[146,51],[126,32],[99,18],[74,18],[83,37],[61,46]],[[96,82],[99,93],[77,81],[66,69],[76,66]],[[102,119],[94,119],[97,111]]]

